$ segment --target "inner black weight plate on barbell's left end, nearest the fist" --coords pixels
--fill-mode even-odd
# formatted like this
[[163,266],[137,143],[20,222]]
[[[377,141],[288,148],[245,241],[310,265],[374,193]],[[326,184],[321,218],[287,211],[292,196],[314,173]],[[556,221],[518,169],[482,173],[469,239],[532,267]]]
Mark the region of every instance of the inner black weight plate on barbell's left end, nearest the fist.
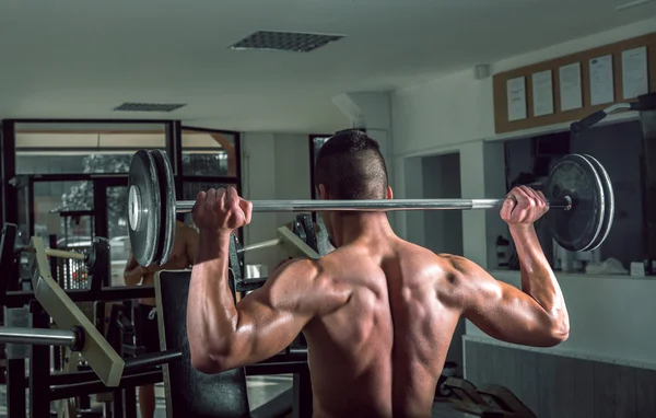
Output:
[[160,201],[162,202],[162,228],[155,262],[163,266],[168,262],[175,244],[175,179],[171,162],[164,151],[152,150],[150,153],[157,164]]

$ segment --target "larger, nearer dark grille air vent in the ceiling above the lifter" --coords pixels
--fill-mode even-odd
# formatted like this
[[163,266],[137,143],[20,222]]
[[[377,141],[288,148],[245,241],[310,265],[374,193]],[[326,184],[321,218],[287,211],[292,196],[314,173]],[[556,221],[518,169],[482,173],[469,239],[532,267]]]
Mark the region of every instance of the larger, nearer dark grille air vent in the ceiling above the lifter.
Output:
[[292,53],[309,53],[331,42],[343,38],[344,35],[307,34],[297,32],[256,32],[231,49],[286,50]]

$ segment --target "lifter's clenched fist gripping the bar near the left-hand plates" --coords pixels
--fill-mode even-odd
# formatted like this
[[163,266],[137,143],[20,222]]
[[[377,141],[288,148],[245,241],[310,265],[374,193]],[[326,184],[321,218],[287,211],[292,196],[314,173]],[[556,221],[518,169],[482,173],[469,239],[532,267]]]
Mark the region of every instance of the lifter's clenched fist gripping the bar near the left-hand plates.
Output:
[[200,191],[194,206],[194,223],[206,232],[232,232],[250,222],[253,204],[233,187]]

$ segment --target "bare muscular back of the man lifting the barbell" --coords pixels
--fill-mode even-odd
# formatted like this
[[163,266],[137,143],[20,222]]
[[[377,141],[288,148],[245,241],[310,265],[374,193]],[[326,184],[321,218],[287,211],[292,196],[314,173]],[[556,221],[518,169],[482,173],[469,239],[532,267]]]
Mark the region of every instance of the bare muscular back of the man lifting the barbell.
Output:
[[401,240],[351,244],[320,263],[320,280],[350,297],[304,329],[315,416],[430,417],[461,313],[449,307],[448,263]]

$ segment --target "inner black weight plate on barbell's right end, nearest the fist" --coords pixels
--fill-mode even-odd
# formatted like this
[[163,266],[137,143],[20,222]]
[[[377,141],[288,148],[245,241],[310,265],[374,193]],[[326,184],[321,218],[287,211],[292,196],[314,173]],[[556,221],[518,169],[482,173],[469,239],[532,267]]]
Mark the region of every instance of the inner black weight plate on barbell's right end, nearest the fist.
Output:
[[555,242],[571,252],[589,247],[601,231],[605,211],[604,186],[595,166],[583,155],[565,155],[555,163],[544,195],[572,198],[572,209],[552,209],[547,214]]

